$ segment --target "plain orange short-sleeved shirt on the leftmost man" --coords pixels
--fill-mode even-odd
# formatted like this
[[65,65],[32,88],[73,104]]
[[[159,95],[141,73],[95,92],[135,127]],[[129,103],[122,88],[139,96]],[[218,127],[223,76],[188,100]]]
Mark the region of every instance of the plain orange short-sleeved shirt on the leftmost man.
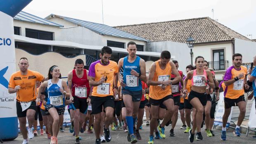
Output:
[[43,81],[43,79],[43,75],[36,71],[28,70],[26,76],[17,71],[12,74],[9,80],[9,87],[21,86],[21,89],[16,92],[16,99],[19,102],[30,102],[35,100],[37,96],[36,81]]

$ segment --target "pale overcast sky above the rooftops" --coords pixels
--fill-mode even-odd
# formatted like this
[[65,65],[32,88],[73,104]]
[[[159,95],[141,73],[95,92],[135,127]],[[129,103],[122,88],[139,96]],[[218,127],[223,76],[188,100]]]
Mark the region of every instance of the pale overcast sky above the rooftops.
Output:
[[33,0],[23,11],[42,18],[57,14],[104,21],[109,26],[210,17],[256,39],[256,0]]

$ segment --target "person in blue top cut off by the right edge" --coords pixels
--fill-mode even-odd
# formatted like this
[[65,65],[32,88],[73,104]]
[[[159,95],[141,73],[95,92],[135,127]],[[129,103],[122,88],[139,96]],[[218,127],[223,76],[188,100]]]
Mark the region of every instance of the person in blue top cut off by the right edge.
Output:
[[[255,109],[256,109],[256,56],[254,57],[254,62],[253,62],[254,68],[252,69],[249,68],[248,70],[248,79],[250,82],[252,82],[252,87],[254,88],[253,92],[254,94],[251,94],[251,97],[248,96],[248,99],[252,99],[254,95],[254,101],[255,101]],[[256,139],[256,135],[252,136],[253,139]]]

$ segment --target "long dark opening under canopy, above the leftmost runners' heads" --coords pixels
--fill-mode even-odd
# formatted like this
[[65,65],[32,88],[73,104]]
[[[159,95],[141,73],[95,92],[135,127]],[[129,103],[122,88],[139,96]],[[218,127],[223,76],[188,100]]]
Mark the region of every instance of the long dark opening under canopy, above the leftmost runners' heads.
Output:
[[21,50],[25,50],[30,54],[42,54],[44,52],[49,52],[51,46],[50,45],[38,45],[27,42],[15,42],[15,47]]

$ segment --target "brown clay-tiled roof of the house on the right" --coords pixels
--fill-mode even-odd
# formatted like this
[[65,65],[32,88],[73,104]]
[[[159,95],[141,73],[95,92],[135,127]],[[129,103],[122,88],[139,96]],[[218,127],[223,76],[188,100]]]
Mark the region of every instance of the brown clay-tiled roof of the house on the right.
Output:
[[195,43],[227,41],[234,38],[250,40],[209,17],[115,26],[114,28],[150,41],[170,40],[185,43],[190,36],[194,38]]

